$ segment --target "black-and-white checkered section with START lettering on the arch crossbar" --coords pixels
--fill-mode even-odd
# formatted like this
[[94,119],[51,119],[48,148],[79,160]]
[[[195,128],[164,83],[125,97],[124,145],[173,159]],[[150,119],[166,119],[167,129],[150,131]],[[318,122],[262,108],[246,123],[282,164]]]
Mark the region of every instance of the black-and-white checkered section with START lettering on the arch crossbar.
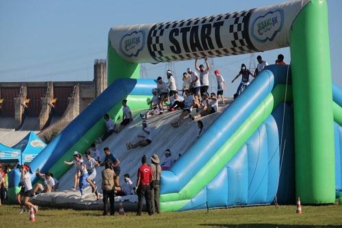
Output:
[[[182,21],[157,23],[153,25],[153,27],[151,27],[150,31],[148,32],[148,51],[156,62],[222,57],[227,55],[240,55],[258,51],[252,45],[248,33],[248,23],[252,11],[253,10],[245,10],[229,14],[206,16],[203,18],[191,18]],[[168,38],[171,29],[181,29],[183,27],[192,27],[195,25],[201,26],[208,23],[213,24],[220,22],[223,23],[220,32],[220,39],[218,41],[217,39],[212,38],[213,45],[206,45],[209,46],[207,47],[207,49],[202,48],[202,50],[185,51],[186,49],[183,43],[179,42],[182,51],[180,54],[174,54],[170,50],[170,47],[167,47],[170,46],[170,41],[168,40]],[[214,29],[215,28],[212,28],[212,30]],[[181,34],[179,34],[179,36],[181,36]],[[187,34],[187,36],[189,38],[189,34]],[[167,42],[167,45],[163,43],[163,40],[166,40],[165,42]]]

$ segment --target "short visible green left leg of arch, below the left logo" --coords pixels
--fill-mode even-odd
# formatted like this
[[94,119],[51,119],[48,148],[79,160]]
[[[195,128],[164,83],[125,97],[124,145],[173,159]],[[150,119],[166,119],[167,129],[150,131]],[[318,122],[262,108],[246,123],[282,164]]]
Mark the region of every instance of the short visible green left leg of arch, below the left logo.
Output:
[[108,86],[119,78],[140,78],[140,65],[122,59],[111,46],[108,39],[107,83]]

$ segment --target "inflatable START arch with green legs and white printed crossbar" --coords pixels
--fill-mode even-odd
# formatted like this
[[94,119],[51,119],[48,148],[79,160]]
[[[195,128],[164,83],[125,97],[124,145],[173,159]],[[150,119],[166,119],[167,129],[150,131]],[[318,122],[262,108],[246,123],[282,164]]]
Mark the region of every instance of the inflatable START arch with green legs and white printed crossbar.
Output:
[[[182,21],[114,27],[109,31],[108,81],[139,78],[142,62],[240,55],[281,47],[291,49],[296,196],[303,203],[332,203],[334,116],[326,1],[290,1]],[[182,192],[187,183],[176,183],[183,176],[175,169],[163,173],[164,210],[180,210],[192,199]],[[172,190],[166,186],[173,184],[168,182],[171,180],[176,186]]]

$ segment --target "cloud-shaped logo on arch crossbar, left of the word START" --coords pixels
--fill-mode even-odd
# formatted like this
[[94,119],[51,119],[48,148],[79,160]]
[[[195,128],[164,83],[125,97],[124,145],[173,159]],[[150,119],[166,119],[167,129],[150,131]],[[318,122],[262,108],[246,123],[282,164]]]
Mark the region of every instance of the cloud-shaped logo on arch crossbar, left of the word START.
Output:
[[127,57],[139,55],[144,49],[144,31],[133,31],[131,34],[124,35],[120,40],[120,51]]

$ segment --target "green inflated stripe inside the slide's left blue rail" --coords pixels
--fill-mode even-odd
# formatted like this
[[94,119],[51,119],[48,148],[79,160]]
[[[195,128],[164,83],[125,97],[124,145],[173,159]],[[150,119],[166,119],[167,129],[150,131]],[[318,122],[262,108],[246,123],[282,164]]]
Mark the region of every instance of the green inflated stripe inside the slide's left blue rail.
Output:
[[[146,103],[146,99],[150,98],[150,96],[137,96],[137,95],[129,95],[127,96],[127,105],[131,108],[132,111],[136,110],[145,110],[148,108]],[[117,121],[118,118],[122,118],[122,104],[117,103],[114,107],[109,110],[109,116],[111,118],[114,117],[114,120]],[[64,164],[64,161],[73,160],[73,153],[74,151],[79,151],[80,153],[86,152],[89,149],[90,144],[92,144],[96,138],[103,135],[105,132],[105,122],[103,118],[98,120],[98,122],[91,127],[86,134],[84,134],[74,145],[71,147],[59,160],[49,169],[51,173],[56,178],[60,178],[66,173],[66,171],[70,168],[69,165]]]

